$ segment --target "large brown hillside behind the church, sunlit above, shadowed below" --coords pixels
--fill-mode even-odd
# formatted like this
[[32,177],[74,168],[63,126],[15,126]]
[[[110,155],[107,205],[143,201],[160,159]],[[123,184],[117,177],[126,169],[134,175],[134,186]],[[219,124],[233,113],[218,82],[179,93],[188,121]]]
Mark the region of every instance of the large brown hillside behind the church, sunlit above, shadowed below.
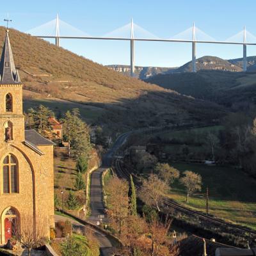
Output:
[[[2,42],[4,34],[1,27]],[[19,31],[11,29],[10,40],[24,83],[25,111],[38,104],[49,106],[58,115],[79,108],[86,122],[108,127],[115,134],[180,120],[211,120],[223,114],[216,104],[123,76]]]

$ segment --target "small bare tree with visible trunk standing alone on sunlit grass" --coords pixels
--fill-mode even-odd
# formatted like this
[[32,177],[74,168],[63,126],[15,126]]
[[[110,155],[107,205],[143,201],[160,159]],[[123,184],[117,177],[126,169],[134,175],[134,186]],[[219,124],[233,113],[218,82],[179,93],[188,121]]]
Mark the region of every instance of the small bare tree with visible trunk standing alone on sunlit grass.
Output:
[[192,195],[195,191],[200,191],[202,187],[201,175],[191,171],[184,172],[184,177],[180,179],[180,182],[186,187],[187,203],[188,203],[189,196]]

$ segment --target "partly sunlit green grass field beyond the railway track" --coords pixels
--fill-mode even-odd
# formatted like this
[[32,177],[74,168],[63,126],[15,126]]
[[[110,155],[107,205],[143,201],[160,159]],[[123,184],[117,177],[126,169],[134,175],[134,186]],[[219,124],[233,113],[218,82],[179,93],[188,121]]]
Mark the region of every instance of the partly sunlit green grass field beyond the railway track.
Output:
[[[180,172],[191,170],[202,175],[202,193],[209,186],[209,213],[256,230],[256,181],[241,170],[205,164],[172,164]],[[205,211],[205,199],[192,196],[186,204],[184,188],[175,182],[168,195],[191,209]]]

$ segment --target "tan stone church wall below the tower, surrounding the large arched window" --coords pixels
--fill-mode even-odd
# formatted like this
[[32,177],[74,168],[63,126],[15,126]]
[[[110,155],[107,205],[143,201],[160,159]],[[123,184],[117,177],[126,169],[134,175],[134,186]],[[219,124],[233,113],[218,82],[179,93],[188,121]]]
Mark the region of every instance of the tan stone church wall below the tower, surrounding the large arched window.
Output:
[[[49,227],[54,227],[54,172],[53,146],[41,146],[44,152],[40,156],[21,142],[0,141],[0,165],[3,170],[3,159],[6,154],[13,154],[18,162],[18,193],[3,193],[3,175],[0,175],[0,244],[4,239],[5,211],[13,207],[22,221],[31,220],[31,225],[45,227],[49,237]],[[1,172],[2,173],[2,172]],[[42,223],[44,221],[44,223]],[[26,223],[26,225],[28,225]]]

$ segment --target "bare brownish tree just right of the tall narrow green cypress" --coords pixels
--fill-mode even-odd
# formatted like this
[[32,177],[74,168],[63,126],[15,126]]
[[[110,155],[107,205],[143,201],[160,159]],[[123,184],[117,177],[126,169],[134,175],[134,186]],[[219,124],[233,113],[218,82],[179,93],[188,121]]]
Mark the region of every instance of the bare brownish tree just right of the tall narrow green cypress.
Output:
[[157,210],[160,211],[161,199],[168,189],[166,182],[159,179],[156,174],[150,174],[147,180],[143,180],[140,198],[146,204],[157,207]]

